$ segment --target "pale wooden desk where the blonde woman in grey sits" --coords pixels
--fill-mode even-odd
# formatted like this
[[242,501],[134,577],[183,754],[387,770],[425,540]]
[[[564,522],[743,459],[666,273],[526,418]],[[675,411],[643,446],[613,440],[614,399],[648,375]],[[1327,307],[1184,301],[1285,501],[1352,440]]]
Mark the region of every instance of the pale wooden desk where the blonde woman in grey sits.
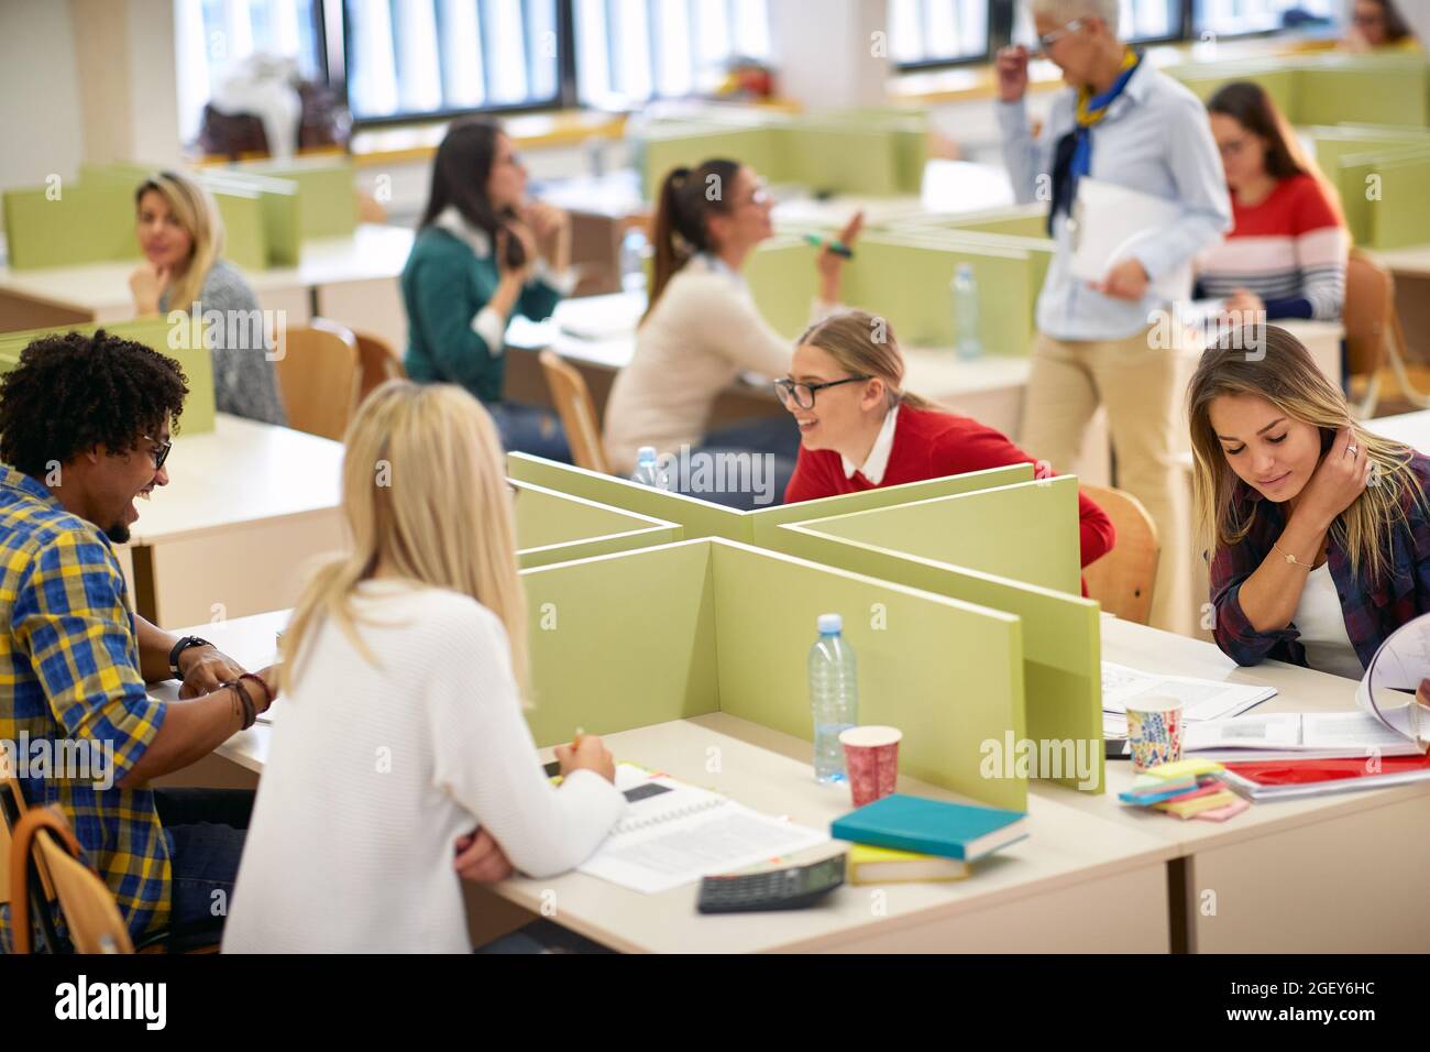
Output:
[[[306,325],[315,315],[333,318],[380,336],[400,354],[408,345],[408,322],[396,279],[413,236],[405,226],[363,223],[350,238],[305,242],[297,266],[247,271],[243,276],[259,306],[282,311],[287,325]],[[129,275],[136,262],[0,268],[0,332],[133,318]]]

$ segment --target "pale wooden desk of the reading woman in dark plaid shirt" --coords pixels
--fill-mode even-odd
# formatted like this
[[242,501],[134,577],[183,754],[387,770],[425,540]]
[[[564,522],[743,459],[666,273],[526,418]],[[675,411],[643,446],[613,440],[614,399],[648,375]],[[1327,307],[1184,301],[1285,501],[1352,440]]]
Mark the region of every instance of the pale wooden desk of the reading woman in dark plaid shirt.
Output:
[[[1238,668],[1216,646],[1103,620],[1108,661],[1277,696],[1256,711],[1347,711],[1353,680],[1280,661]],[[1107,793],[1035,783],[1034,796],[1177,849],[1187,949],[1200,953],[1361,953],[1430,949],[1430,783],[1253,804],[1226,823],[1183,822],[1117,802],[1131,763],[1108,761]],[[1174,903],[1175,909],[1175,903]],[[1175,922],[1174,922],[1175,923]]]

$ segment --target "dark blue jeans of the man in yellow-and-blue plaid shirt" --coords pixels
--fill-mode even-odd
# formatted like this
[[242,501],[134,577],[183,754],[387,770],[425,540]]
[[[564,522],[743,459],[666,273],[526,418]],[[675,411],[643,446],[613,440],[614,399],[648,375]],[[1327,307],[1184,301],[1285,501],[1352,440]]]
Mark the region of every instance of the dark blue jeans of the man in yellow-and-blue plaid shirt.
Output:
[[212,927],[217,935],[233,905],[253,790],[156,789],[154,809],[169,842],[169,927]]

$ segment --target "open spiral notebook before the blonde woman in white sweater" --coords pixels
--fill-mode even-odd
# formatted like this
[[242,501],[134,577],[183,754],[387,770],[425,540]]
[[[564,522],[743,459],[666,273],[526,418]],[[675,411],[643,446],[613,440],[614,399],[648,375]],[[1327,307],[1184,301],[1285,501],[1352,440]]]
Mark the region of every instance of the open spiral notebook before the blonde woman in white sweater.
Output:
[[625,813],[578,870],[646,895],[829,840],[822,830],[632,764],[616,767],[616,789],[626,796]]

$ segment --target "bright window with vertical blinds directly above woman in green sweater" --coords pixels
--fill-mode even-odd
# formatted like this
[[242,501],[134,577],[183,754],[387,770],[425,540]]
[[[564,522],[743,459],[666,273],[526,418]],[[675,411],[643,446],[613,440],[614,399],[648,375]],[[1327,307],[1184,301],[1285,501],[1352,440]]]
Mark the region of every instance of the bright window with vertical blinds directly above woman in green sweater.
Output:
[[556,0],[345,0],[355,120],[553,104]]

